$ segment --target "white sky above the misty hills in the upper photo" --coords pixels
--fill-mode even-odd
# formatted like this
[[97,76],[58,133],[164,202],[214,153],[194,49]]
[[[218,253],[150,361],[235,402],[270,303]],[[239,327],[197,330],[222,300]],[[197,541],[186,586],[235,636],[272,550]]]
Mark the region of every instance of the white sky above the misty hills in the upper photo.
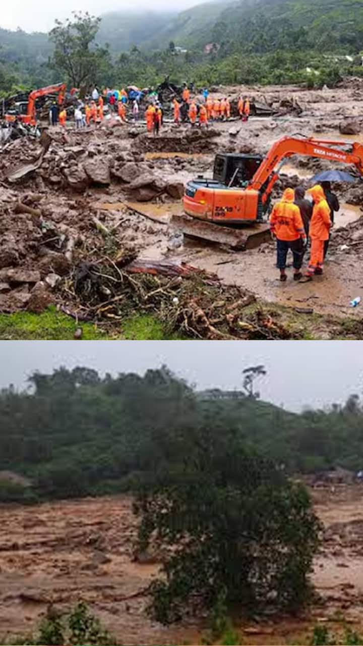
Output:
[[[54,26],[54,20],[64,20],[71,16],[72,11],[88,11],[94,16],[108,11],[167,10],[182,11],[194,5],[202,4],[203,0],[179,0],[174,5],[170,0],[155,0],[152,4],[147,0],[62,0],[61,3],[51,3],[48,0],[37,0],[37,4],[25,0],[12,0],[1,3],[0,26],[5,29],[16,29],[18,26],[26,32],[48,32]],[[1,45],[1,43],[0,43]]]

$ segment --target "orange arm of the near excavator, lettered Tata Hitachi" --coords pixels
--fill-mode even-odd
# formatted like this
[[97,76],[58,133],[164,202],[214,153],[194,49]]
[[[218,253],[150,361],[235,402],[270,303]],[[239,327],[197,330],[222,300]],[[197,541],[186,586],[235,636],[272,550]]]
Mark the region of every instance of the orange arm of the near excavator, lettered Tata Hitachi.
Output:
[[[349,146],[351,147],[351,152],[345,152],[333,146],[345,148]],[[247,188],[260,191],[265,185],[264,193],[262,194],[262,202],[265,203],[273,189],[273,185],[278,180],[278,172],[275,171],[276,165],[285,158],[293,155],[320,157],[340,163],[354,164],[363,176],[363,145],[360,143],[350,143],[350,141],[325,141],[315,138],[299,139],[297,137],[284,137],[276,141],[273,147],[271,147],[264,161],[262,161],[262,164],[254,173]]]

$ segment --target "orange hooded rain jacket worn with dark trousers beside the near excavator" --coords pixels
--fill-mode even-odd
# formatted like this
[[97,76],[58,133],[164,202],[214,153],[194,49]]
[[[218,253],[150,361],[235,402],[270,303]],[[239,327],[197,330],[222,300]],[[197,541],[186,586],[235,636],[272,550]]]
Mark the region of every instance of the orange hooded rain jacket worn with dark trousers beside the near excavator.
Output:
[[305,238],[304,224],[300,209],[294,204],[295,193],[293,189],[286,189],[281,202],[273,207],[270,216],[271,233],[276,235],[278,240],[298,240]]

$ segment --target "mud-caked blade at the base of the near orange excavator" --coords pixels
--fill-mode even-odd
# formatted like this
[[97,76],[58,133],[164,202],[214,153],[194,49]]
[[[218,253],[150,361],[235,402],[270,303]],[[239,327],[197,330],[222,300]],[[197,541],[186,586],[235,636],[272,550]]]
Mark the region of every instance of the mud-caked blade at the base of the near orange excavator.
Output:
[[271,240],[268,224],[253,224],[243,229],[230,229],[219,224],[197,220],[187,215],[173,215],[171,224],[185,236],[227,245],[236,251],[256,249]]

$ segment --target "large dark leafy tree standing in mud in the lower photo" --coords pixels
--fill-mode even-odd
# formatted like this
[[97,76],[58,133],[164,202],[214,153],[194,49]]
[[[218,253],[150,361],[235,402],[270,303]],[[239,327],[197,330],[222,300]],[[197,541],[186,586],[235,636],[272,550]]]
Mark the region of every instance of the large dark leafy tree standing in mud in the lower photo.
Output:
[[[184,430],[178,446],[178,460],[149,479],[135,505],[138,547],[170,554],[150,588],[150,614],[172,623],[213,612],[221,598],[246,612],[298,609],[311,592],[320,528],[304,486],[245,453],[218,424]],[[172,447],[171,437],[169,455]]]

